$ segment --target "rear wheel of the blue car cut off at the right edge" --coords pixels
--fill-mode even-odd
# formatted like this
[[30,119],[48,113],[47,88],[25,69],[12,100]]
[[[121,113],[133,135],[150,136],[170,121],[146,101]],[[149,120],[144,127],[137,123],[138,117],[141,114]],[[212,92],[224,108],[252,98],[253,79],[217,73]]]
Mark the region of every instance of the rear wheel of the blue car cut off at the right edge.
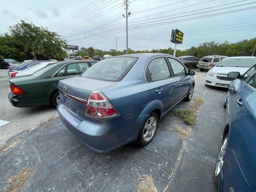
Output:
[[226,144],[228,142],[228,134],[225,136],[220,150],[219,150],[219,154],[218,154],[218,158],[216,160],[215,166],[214,166],[214,170],[213,170],[213,182],[215,186],[218,186],[219,184],[219,180],[220,180],[220,173],[221,170],[223,168],[223,158],[225,155],[225,150],[226,150]]

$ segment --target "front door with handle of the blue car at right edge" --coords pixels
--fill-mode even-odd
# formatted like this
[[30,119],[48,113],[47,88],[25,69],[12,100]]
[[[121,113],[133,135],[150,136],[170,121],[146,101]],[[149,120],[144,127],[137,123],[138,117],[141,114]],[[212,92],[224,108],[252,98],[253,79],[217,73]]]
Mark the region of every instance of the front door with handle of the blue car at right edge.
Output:
[[[240,79],[231,82],[227,93],[227,117],[231,118],[238,113],[242,106],[251,100],[254,96],[251,89],[247,86],[256,74],[256,66],[248,70]],[[228,120],[228,118],[226,118]]]

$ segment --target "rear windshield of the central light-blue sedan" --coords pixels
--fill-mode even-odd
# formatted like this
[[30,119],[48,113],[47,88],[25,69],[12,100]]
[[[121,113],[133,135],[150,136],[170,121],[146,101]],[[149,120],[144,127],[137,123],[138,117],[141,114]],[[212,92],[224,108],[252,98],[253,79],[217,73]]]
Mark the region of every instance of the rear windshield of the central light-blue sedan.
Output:
[[90,67],[81,77],[105,80],[120,81],[130,70],[137,58],[115,57],[104,59]]

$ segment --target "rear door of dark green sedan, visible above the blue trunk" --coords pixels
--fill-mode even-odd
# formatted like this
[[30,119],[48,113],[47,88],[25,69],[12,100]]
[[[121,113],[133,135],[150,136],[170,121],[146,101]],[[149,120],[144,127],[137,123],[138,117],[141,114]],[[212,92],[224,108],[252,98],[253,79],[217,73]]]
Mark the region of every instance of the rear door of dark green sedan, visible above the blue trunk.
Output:
[[91,64],[88,62],[75,62],[75,63],[70,63],[66,66],[66,74],[65,74],[65,79],[75,77],[77,75],[82,74],[85,72]]

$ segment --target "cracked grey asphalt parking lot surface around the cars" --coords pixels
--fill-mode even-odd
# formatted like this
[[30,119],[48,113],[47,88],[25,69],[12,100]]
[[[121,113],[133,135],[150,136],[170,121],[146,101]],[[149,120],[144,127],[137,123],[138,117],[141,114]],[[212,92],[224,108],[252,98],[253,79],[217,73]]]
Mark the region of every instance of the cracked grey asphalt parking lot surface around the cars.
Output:
[[[1,141],[12,143],[0,154],[0,190],[9,186],[6,180],[13,174],[36,167],[20,191],[130,192],[136,191],[139,175],[151,175],[158,192],[216,192],[212,173],[224,130],[226,90],[204,86],[205,75],[196,70],[193,98],[202,97],[204,103],[185,141],[170,129],[174,123],[185,126],[171,111],[160,120],[148,146],[130,143],[96,153],[64,127],[54,108],[12,107],[8,76],[0,70],[0,119],[11,122],[0,127]],[[40,125],[52,116],[56,118]]]

